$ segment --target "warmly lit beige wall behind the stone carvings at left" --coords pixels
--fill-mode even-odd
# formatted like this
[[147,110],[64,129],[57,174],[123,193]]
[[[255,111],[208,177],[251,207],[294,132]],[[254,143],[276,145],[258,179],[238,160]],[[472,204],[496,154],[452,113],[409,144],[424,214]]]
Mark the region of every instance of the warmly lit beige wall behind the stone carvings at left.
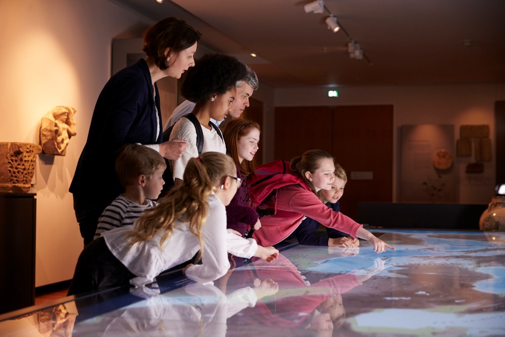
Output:
[[[2,0],[0,16],[0,141],[38,143],[47,111],[57,105],[77,109],[77,135],[67,155],[37,160],[31,191],[37,193],[40,286],[70,279],[82,249],[68,188],[94,103],[110,77],[112,38],[150,22],[106,0]],[[97,177],[97,193],[99,186]]]

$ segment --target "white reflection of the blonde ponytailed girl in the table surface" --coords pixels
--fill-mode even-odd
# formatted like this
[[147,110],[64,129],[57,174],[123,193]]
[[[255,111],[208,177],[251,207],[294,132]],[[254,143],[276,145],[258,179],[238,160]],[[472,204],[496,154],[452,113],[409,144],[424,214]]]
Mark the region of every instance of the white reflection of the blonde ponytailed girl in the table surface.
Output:
[[[264,294],[258,287],[242,287],[224,295],[212,284],[190,283],[172,292],[105,314],[93,325],[103,336],[208,336],[225,337],[226,321]],[[270,293],[271,294],[271,293]],[[99,333],[98,332],[98,333]],[[99,334],[102,335],[102,334]],[[229,334],[228,334],[229,335]]]

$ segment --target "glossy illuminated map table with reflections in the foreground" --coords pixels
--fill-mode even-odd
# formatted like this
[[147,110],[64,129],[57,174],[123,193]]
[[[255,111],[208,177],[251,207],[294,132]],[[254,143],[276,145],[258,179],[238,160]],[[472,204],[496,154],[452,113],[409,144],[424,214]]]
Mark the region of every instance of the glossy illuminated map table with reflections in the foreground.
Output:
[[[2,336],[505,335],[505,233],[376,230],[396,251],[290,245],[214,284],[162,275],[0,317]],[[20,318],[19,316],[25,316]],[[59,321],[58,321],[59,319]],[[58,322],[57,322],[58,321]]]

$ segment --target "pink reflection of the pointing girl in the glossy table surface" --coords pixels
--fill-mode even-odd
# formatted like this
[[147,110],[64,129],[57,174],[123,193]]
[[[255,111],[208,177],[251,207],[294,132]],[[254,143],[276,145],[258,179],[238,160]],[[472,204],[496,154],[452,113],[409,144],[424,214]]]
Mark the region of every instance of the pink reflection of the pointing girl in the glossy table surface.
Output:
[[[236,269],[228,280],[228,289],[248,284],[251,279],[271,278],[278,283],[279,290],[243,311],[242,321],[237,321],[235,328],[240,329],[240,324],[261,324],[275,329],[279,335],[298,335],[306,329],[314,330],[316,335],[331,335],[345,320],[341,294],[384,268],[384,262],[376,259],[368,269],[327,277],[327,274],[304,274],[279,255],[275,264],[268,267],[257,261],[246,269]],[[230,322],[228,329],[232,329]]]

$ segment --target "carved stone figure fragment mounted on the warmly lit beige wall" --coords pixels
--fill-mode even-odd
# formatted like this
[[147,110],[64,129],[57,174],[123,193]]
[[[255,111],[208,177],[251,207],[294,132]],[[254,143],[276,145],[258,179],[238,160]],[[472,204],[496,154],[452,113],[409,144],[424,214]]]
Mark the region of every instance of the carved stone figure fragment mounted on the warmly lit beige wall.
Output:
[[72,107],[58,106],[42,117],[40,144],[48,155],[65,156],[70,138],[77,134]]

